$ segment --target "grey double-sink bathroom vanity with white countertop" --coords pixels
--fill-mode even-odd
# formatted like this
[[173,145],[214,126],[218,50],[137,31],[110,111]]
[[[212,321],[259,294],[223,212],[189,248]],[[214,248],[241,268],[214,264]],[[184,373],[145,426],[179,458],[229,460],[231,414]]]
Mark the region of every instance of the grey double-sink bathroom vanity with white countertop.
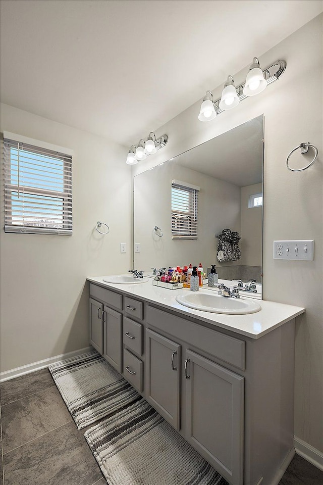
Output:
[[294,454],[304,309],[210,313],[176,301],[187,288],[88,281],[90,344],[232,485],[277,484]]

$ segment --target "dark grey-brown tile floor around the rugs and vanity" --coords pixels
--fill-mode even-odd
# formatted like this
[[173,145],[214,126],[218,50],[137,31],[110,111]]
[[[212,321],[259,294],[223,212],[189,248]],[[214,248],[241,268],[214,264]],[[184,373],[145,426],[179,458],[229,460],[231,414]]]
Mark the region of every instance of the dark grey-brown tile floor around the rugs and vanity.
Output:
[[[0,401],[0,485],[106,485],[47,369],[3,382]],[[322,483],[323,472],[295,455],[279,485]]]

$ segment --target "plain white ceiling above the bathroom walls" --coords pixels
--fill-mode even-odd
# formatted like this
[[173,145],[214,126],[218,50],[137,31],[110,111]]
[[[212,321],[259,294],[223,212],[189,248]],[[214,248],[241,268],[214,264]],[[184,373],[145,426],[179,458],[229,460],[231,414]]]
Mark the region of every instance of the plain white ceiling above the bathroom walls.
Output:
[[1,0],[1,101],[130,146],[321,11],[317,0]]

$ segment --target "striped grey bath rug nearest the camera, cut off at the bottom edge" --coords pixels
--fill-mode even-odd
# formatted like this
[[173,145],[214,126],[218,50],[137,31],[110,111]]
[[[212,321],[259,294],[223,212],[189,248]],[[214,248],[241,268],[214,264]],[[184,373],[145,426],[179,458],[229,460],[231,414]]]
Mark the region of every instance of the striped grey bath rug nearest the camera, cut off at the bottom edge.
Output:
[[109,485],[229,485],[140,396],[84,436]]

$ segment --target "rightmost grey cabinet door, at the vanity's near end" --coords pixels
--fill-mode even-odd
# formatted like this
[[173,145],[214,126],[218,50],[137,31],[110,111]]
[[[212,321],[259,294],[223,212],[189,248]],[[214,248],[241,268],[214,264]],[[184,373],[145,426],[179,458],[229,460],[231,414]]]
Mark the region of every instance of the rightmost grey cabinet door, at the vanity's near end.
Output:
[[230,483],[243,483],[244,378],[186,352],[186,439]]

